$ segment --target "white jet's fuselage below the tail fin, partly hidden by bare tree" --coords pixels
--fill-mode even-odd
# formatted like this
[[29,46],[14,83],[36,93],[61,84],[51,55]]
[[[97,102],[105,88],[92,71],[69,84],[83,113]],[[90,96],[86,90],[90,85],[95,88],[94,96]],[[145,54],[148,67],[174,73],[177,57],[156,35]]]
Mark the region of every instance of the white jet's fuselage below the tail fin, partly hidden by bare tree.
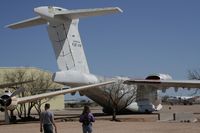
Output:
[[[53,75],[53,81],[71,87],[100,83],[113,79],[119,80],[124,78],[125,77],[106,78],[101,76],[95,76],[93,74],[85,74],[70,70],[56,72]],[[135,88],[136,93],[135,96],[133,96],[135,97],[135,99],[132,101],[130,105],[126,107],[126,110],[124,110],[124,112],[129,111],[129,112],[149,113],[155,111],[156,107],[160,104],[160,102],[158,103],[159,98],[157,95],[157,91],[154,91],[153,89],[149,88],[144,88],[142,86],[135,86],[135,87],[136,87]],[[105,112],[106,111],[108,112],[111,108],[110,104],[108,103],[108,97],[105,95],[105,88],[106,86],[96,87],[85,91],[81,91],[79,93],[81,95],[89,97],[90,99],[98,103],[100,106],[102,106]],[[124,104],[127,102],[126,96],[121,99],[121,102]]]

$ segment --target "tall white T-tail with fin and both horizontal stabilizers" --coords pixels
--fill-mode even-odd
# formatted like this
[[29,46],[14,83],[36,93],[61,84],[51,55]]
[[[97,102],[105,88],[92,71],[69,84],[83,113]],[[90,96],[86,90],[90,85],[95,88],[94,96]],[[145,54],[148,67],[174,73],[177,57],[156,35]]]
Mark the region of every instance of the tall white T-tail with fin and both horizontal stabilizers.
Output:
[[122,12],[118,7],[67,10],[50,6],[34,11],[40,16],[7,27],[18,29],[47,23],[59,69],[83,73],[89,73],[89,68],[78,31],[79,18]]

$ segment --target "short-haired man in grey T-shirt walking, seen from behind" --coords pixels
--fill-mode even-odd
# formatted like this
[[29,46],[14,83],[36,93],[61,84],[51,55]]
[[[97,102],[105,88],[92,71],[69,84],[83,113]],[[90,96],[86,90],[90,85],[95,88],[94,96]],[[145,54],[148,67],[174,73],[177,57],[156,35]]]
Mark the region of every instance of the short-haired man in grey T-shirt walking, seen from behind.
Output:
[[40,115],[40,132],[43,131],[44,133],[53,133],[53,125],[55,127],[55,133],[57,133],[57,127],[54,122],[54,115],[52,112],[49,111],[50,104],[46,103],[44,106],[45,111]]

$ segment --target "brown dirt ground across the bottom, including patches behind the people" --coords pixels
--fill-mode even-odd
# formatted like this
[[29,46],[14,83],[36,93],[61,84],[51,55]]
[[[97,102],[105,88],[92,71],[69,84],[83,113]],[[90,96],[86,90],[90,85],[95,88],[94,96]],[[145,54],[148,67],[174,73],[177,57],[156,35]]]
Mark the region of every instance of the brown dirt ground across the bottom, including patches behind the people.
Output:
[[[75,116],[81,109],[68,109],[65,111],[55,111],[58,133],[82,133],[81,123]],[[92,109],[92,112],[98,114],[100,109]],[[200,105],[192,106],[167,106],[162,112],[193,112],[200,113]],[[61,114],[62,117],[61,117]],[[1,115],[1,114],[0,114]],[[70,116],[70,117],[69,117]],[[67,121],[65,118],[74,116],[73,121]],[[161,122],[157,120],[156,114],[151,115],[120,115],[117,116],[121,122],[110,121],[110,116],[96,116],[96,122],[93,124],[93,133],[199,133],[200,122],[181,123],[181,122]],[[65,121],[66,120],[66,121]],[[0,133],[38,133],[39,122],[18,123],[12,125],[0,125]]]

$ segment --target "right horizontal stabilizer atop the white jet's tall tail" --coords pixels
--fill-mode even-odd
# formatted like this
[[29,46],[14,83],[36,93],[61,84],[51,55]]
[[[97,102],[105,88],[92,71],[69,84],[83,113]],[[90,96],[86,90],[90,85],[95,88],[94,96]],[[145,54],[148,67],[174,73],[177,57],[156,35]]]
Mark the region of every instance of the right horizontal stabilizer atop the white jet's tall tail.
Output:
[[55,16],[66,16],[70,19],[77,19],[81,17],[100,16],[111,13],[119,13],[122,10],[119,7],[107,8],[94,8],[94,9],[77,9],[77,10],[64,10],[63,12],[56,13]]

